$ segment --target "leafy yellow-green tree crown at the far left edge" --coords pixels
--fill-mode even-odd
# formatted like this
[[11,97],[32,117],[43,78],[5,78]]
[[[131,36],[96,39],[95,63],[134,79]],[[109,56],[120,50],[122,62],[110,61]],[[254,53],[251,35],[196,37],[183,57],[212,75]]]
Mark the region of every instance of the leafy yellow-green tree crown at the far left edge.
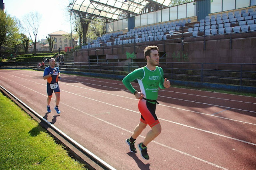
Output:
[[2,57],[1,47],[13,47],[19,37],[19,29],[14,18],[0,10],[0,57]]

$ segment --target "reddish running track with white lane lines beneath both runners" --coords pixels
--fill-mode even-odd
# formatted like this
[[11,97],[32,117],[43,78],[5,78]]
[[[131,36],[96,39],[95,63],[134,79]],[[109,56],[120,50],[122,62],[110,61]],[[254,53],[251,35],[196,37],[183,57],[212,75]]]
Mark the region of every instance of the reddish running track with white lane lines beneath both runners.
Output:
[[[138,100],[122,81],[62,74],[58,115],[54,95],[52,113],[46,113],[42,77],[42,71],[0,70],[0,85],[116,169],[256,167],[255,97],[173,87],[160,90],[156,115],[162,133],[148,145],[150,160],[144,160],[125,143],[140,113]],[[132,84],[139,90],[138,83]]]

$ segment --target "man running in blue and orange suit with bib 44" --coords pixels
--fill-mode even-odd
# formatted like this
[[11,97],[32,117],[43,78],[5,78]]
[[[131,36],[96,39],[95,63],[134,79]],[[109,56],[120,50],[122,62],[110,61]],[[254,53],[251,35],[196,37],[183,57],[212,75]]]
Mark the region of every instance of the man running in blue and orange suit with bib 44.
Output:
[[60,87],[58,84],[58,79],[60,78],[60,71],[58,67],[55,67],[55,59],[51,58],[49,59],[49,64],[50,66],[46,67],[44,69],[44,80],[47,79],[47,111],[48,113],[52,112],[50,109],[50,102],[52,99],[52,93],[54,91],[55,96],[56,96],[56,106],[54,107],[54,109],[56,110],[56,112],[58,114],[60,114],[60,110],[58,108],[59,103],[60,103]]

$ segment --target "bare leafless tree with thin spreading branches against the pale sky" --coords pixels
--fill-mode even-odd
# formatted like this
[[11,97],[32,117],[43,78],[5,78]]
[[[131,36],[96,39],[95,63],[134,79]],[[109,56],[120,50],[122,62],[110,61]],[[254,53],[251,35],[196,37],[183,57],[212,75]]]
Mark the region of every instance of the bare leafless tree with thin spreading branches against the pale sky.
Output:
[[36,37],[41,19],[42,15],[39,14],[38,12],[30,12],[26,14],[23,18],[25,26],[24,29],[26,30],[26,32],[28,32],[31,40],[33,40],[32,34],[34,35],[34,41],[32,41],[32,43],[34,44],[34,54],[36,54]]

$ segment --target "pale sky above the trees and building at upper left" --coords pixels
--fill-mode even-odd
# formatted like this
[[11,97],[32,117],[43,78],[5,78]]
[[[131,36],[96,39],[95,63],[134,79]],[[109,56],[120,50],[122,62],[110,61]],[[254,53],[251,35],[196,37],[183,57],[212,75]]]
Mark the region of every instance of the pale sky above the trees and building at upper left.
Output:
[[46,39],[48,34],[59,30],[70,33],[70,16],[66,10],[69,0],[3,0],[3,2],[4,11],[21,21],[23,16],[30,12],[38,12],[42,15],[37,40]]

